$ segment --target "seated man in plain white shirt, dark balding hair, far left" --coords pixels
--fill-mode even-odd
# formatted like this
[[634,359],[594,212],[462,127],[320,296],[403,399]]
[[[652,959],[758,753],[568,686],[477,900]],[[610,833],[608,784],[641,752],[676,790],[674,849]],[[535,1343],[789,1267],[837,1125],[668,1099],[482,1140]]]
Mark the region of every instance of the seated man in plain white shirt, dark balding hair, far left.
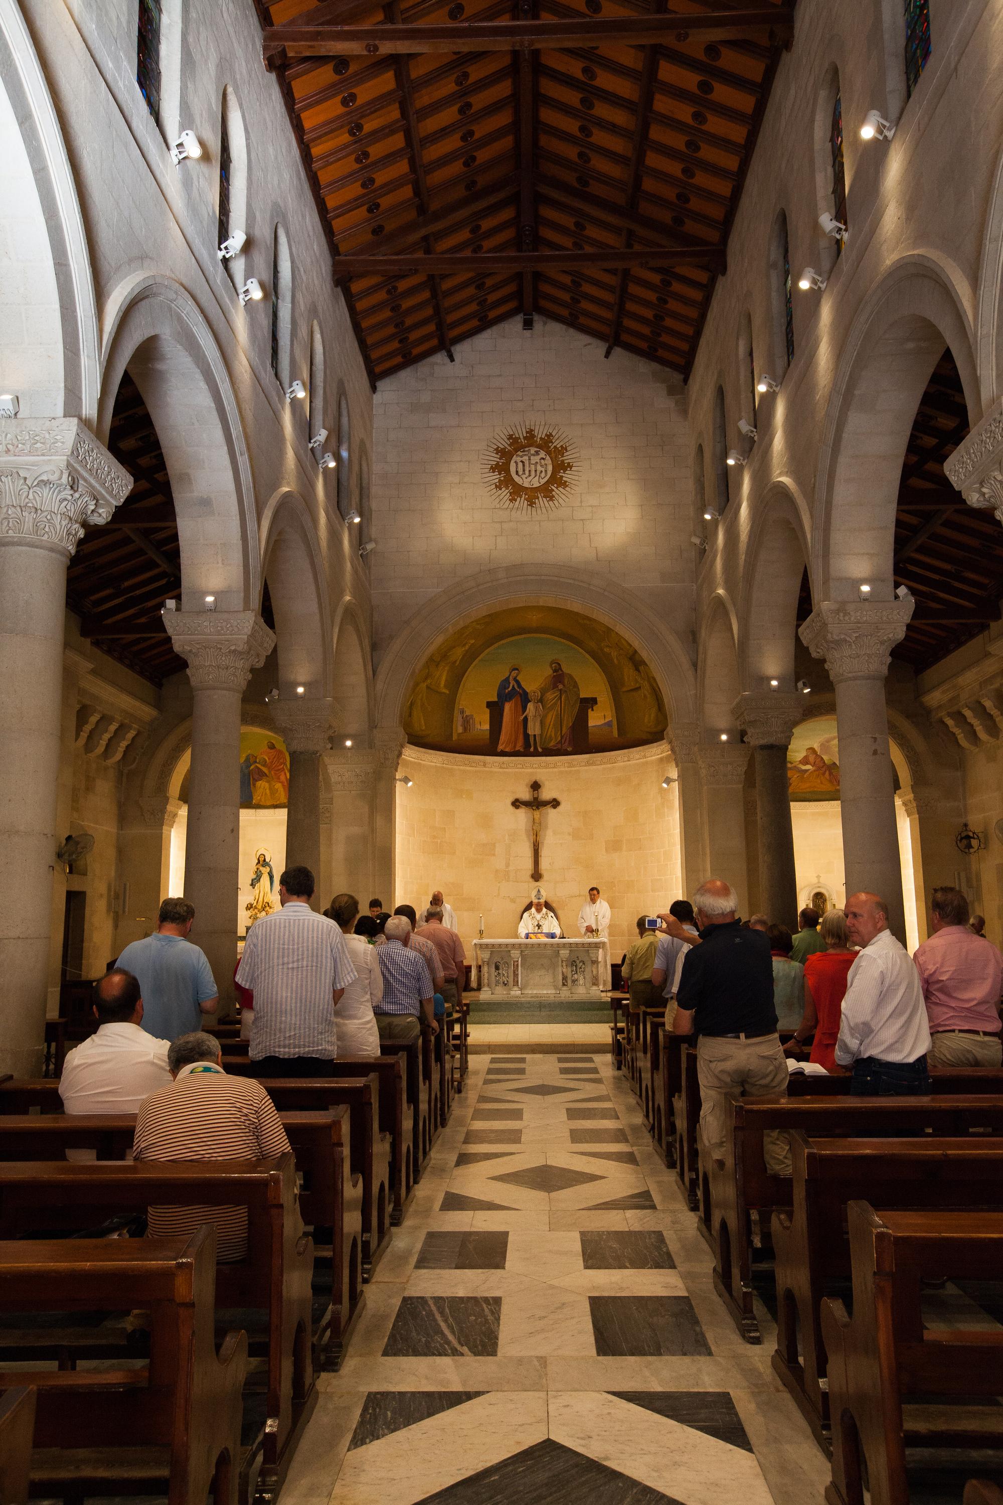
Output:
[[68,1114],[135,1114],[171,1081],[170,1040],[140,1028],[143,999],[132,972],[116,968],[95,983],[98,1032],[71,1050],[59,1081]]

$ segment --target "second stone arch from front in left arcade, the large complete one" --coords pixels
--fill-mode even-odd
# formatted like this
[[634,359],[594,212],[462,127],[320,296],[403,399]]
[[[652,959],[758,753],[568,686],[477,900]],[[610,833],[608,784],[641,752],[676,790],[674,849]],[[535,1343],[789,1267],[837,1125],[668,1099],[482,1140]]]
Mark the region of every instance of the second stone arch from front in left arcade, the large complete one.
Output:
[[254,486],[241,415],[223,355],[176,281],[128,278],[110,298],[98,438],[107,441],[122,373],[153,418],[174,497],[182,600],[245,611],[260,596]]

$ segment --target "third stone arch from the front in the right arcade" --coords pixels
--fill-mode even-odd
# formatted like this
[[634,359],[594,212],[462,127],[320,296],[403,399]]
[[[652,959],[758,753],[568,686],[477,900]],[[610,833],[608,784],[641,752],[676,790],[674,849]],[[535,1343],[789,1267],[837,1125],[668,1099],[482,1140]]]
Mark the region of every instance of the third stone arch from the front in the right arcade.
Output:
[[785,483],[774,485],[753,522],[743,572],[738,649],[747,691],[765,689],[771,679],[780,689],[794,689],[797,599],[811,560],[809,537],[803,498]]

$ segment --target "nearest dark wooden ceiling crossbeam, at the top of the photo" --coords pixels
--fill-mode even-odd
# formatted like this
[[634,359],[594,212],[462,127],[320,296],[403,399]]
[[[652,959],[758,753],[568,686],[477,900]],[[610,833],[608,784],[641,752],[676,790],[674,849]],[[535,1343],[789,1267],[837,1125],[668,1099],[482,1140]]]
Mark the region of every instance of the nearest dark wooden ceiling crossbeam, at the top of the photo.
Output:
[[292,21],[263,29],[265,66],[275,69],[293,57],[352,57],[400,53],[460,53],[570,47],[660,47],[689,36],[702,42],[743,41],[764,32],[770,47],[786,44],[794,30],[789,12],[776,6],[717,11],[707,15],[582,17],[568,21],[447,21],[380,26],[308,26]]

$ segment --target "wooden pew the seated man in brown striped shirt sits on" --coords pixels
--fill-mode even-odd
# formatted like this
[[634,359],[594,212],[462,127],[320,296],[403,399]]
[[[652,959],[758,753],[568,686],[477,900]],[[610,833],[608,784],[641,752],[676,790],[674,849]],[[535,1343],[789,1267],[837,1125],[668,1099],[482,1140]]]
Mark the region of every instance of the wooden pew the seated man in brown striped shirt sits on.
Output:
[[302,1233],[293,1156],[0,1163],[0,1227],[15,1239],[93,1228],[111,1215],[144,1213],[150,1206],[233,1204],[247,1207],[248,1249],[244,1260],[217,1266],[217,1315],[256,1309],[265,1317],[248,1338],[251,1356],[268,1361],[266,1415],[241,1466],[241,1497],[265,1502],[278,1491],[317,1403],[310,1351],[313,1240]]

